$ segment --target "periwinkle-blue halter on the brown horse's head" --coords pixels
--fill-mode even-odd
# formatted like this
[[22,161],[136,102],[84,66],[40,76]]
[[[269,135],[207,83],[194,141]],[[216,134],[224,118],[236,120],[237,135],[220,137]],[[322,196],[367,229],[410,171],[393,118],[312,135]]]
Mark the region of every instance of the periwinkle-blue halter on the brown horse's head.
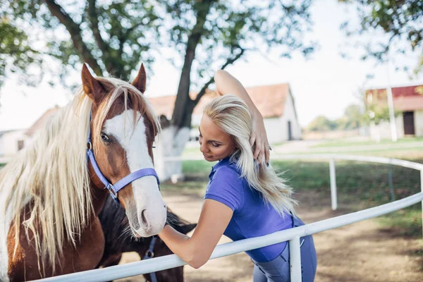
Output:
[[[91,114],[90,114],[90,121],[91,121]],[[104,189],[109,190],[111,197],[118,204],[121,204],[118,200],[119,190],[124,188],[129,183],[132,183],[134,180],[137,180],[138,178],[142,178],[145,176],[154,176],[157,179],[157,185],[160,185],[159,176],[157,176],[157,172],[154,170],[154,168],[142,168],[137,171],[134,171],[133,173],[130,173],[130,175],[128,176],[125,176],[124,178],[116,182],[114,185],[109,183],[109,181],[104,177],[102,171],[100,170],[97,164],[97,161],[95,160],[94,152],[92,151],[90,124],[88,124],[87,160],[90,161],[92,168],[94,168],[95,174],[98,176],[99,180],[101,180],[102,183],[104,184]]]

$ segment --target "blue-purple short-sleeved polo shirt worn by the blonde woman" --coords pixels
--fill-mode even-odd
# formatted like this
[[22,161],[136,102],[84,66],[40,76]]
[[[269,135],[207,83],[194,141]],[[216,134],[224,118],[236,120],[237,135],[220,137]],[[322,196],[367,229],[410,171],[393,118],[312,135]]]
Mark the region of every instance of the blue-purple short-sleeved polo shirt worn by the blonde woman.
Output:
[[[222,159],[213,166],[209,175],[204,199],[212,199],[233,210],[231,221],[224,235],[231,240],[258,237],[276,231],[292,228],[293,219],[290,214],[283,218],[271,204],[266,204],[262,194],[250,188],[245,178],[241,178],[236,164]],[[256,262],[269,262],[281,255],[286,242],[247,251]]]

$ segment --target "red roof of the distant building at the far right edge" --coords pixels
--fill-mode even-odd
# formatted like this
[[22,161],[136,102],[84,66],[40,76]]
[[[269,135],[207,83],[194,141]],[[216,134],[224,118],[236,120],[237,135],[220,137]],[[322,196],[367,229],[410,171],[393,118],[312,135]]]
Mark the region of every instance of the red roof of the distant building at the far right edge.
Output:
[[[373,102],[386,103],[386,89],[366,90],[366,98],[370,94],[372,94]],[[393,106],[399,111],[423,109],[423,85],[393,87],[392,96]]]

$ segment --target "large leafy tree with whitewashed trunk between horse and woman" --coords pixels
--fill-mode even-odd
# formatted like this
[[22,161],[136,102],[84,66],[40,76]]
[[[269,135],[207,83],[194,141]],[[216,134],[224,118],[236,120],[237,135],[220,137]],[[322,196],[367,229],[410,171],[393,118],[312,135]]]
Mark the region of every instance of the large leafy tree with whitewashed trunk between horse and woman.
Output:
[[[4,11],[18,22],[29,21],[49,31],[47,54],[63,66],[88,63],[97,75],[128,80],[140,61],[167,55],[181,69],[175,111],[168,138],[171,152],[180,155],[189,137],[192,111],[213,80],[212,70],[225,68],[247,51],[266,53],[272,47],[289,57],[307,56],[314,44],[304,42],[310,29],[311,0],[232,1],[58,1],[11,0]],[[61,37],[57,34],[60,32]],[[63,36],[66,34],[66,36]],[[63,68],[61,75],[66,74]],[[200,91],[189,96],[192,85]],[[166,156],[164,156],[166,157]],[[169,173],[164,173],[168,178]]]

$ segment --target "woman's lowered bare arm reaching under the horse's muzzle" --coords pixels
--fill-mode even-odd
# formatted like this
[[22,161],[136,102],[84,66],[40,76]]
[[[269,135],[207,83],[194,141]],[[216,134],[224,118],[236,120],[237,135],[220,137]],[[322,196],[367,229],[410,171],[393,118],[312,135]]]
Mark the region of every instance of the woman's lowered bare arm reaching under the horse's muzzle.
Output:
[[232,214],[232,209],[226,204],[207,199],[191,238],[168,225],[164,226],[159,237],[180,259],[197,269],[209,260]]

